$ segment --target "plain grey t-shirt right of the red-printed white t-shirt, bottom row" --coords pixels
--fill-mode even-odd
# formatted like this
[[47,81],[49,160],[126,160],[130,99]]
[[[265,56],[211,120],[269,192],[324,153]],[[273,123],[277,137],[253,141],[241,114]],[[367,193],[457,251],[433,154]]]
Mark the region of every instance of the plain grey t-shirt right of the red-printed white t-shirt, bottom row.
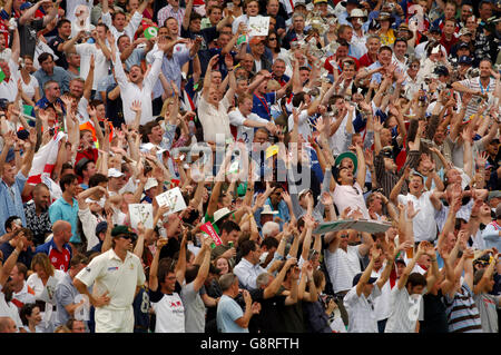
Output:
[[193,282],[183,286],[180,297],[185,306],[185,332],[204,333],[205,305],[198,290],[195,290]]

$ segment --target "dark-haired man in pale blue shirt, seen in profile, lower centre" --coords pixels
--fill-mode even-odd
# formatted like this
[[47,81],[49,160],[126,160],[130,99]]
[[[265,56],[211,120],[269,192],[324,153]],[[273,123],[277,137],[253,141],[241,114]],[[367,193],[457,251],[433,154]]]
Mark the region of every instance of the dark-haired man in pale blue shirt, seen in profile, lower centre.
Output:
[[238,276],[238,280],[246,289],[256,289],[256,279],[266,270],[259,266],[262,249],[254,240],[245,240],[239,245],[242,252],[240,262],[235,265],[233,273]]

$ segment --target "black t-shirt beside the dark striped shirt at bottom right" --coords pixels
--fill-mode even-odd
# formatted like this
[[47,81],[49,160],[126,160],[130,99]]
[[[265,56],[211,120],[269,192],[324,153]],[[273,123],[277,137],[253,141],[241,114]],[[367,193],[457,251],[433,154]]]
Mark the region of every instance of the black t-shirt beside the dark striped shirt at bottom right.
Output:
[[449,333],[448,316],[442,299],[441,289],[436,295],[423,296],[424,321],[420,322],[420,333]]

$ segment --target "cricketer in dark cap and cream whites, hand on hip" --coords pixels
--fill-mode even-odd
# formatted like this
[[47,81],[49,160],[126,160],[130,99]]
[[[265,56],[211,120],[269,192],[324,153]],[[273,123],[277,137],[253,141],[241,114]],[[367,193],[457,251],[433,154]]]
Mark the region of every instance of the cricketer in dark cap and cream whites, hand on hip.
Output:
[[[95,257],[73,283],[96,307],[96,333],[132,333],[134,297],[146,280],[141,260],[130,252],[137,235],[116,226],[111,237],[112,248]],[[94,295],[88,290],[92,285]]]

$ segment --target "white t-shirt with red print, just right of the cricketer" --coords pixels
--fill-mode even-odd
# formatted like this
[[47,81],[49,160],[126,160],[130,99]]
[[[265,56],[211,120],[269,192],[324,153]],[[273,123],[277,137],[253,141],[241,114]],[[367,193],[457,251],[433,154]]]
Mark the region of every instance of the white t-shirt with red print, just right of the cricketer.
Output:
[[151,307],[157,315],[155,333],[185,333],[185,306],[177,293],[164,294]]

